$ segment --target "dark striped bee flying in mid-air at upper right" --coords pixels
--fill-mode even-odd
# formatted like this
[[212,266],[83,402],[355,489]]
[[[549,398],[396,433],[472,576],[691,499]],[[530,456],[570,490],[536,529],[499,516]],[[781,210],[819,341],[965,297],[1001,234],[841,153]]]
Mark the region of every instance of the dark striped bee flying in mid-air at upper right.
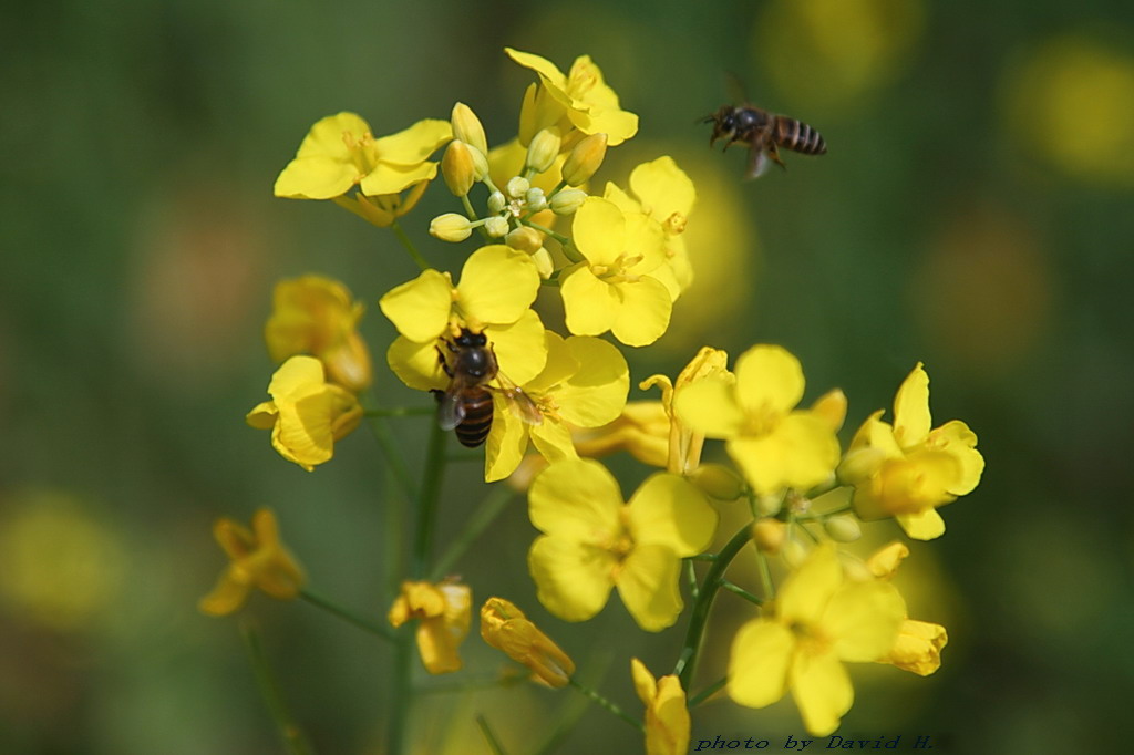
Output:
[[787,170],[780,160],[779,147],[803,154],[827,153],[822,135],[807,124],[751,104],[723,105],[701,122],[713,125],[709,146],[720,138],[728,139],[726,150],[736,143],[748,146],[748,172],[745,178],[763,175],[769,159]]

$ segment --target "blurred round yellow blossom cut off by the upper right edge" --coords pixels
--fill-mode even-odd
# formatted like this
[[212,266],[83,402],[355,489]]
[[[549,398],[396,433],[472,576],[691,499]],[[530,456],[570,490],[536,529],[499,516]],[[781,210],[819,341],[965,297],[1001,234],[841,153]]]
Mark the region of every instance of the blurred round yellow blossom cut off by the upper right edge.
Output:
[[1005,82],[1010,126],[1068,176],[1134,185],[1134,56],[1056,37]]

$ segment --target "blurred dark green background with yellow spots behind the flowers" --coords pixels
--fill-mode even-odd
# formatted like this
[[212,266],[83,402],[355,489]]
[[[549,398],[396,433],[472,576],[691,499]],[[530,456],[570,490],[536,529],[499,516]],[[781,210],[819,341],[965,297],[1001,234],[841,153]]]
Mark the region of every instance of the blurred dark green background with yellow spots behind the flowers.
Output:
[[[196,610],[223,566],[218,516],[273,507],[314,587],[384,614],[400,535],[372,439],[356,433],[307,474],[243,417],[272,371],[261,329],[278,278],[346,281],[371,305],[363,332],[381,355],[392,330],[376,299],[416,270],[388,232],[271,186],[310,125],[340,110],[388,134],[459,100],[490,142],[510,138],[531,78],[505,45],[564,69],[591,54],[641,116],[600,178],[671,154],[697,184],[697,287],[672,331],[632,356],[635,380],[674,374],[702,343],[782,343],[809,399],[849,397],[845,442],[921,359],[934,418],[980,436],[980,487],[898,583],[913,616],[948,626],[945,664],[928,679],[855,668],[840,733],[1120,752],[1134,699],[1132,43],[1134,10],[1106,0],[6,3],[0,752],[281,752],[238,622]],[[742,154],[710,152],[695,124],[733,99],[728,73],[819,128],[830,153],[788,154],[786,173],[743,183]],[[457,253],[425,227],[455,209],[438,184],[405,222],[437,264]],[[387,404],[426,400],[376,374]],[[412,452],[426,424],[395,432]],[[641,478],[615,465],[627,487]],[[442,542],[483,494],[475,463],[455,468]],[[684,619],[646,636],[617,599],[586,625],[549,617],[524,566],[532,537],[517,502],[463,559],[477,604],[519,603],[636,713],[628,658],[666,672]],[[718,608],[699,686],[751,616],[730,595]],[[262,595],[244,620],[318,752],[382,752],[384,645]],[[474,627],[467,678],[501,661]],[[483,714],[526,753],[582,715],[560,752],[640,747],[584,707],[569,690],[438,690],[411,730],[420,753],[486,752]],[[803,733],[790,701],[718,702],[693,737],[775,749],[787,733]]]

